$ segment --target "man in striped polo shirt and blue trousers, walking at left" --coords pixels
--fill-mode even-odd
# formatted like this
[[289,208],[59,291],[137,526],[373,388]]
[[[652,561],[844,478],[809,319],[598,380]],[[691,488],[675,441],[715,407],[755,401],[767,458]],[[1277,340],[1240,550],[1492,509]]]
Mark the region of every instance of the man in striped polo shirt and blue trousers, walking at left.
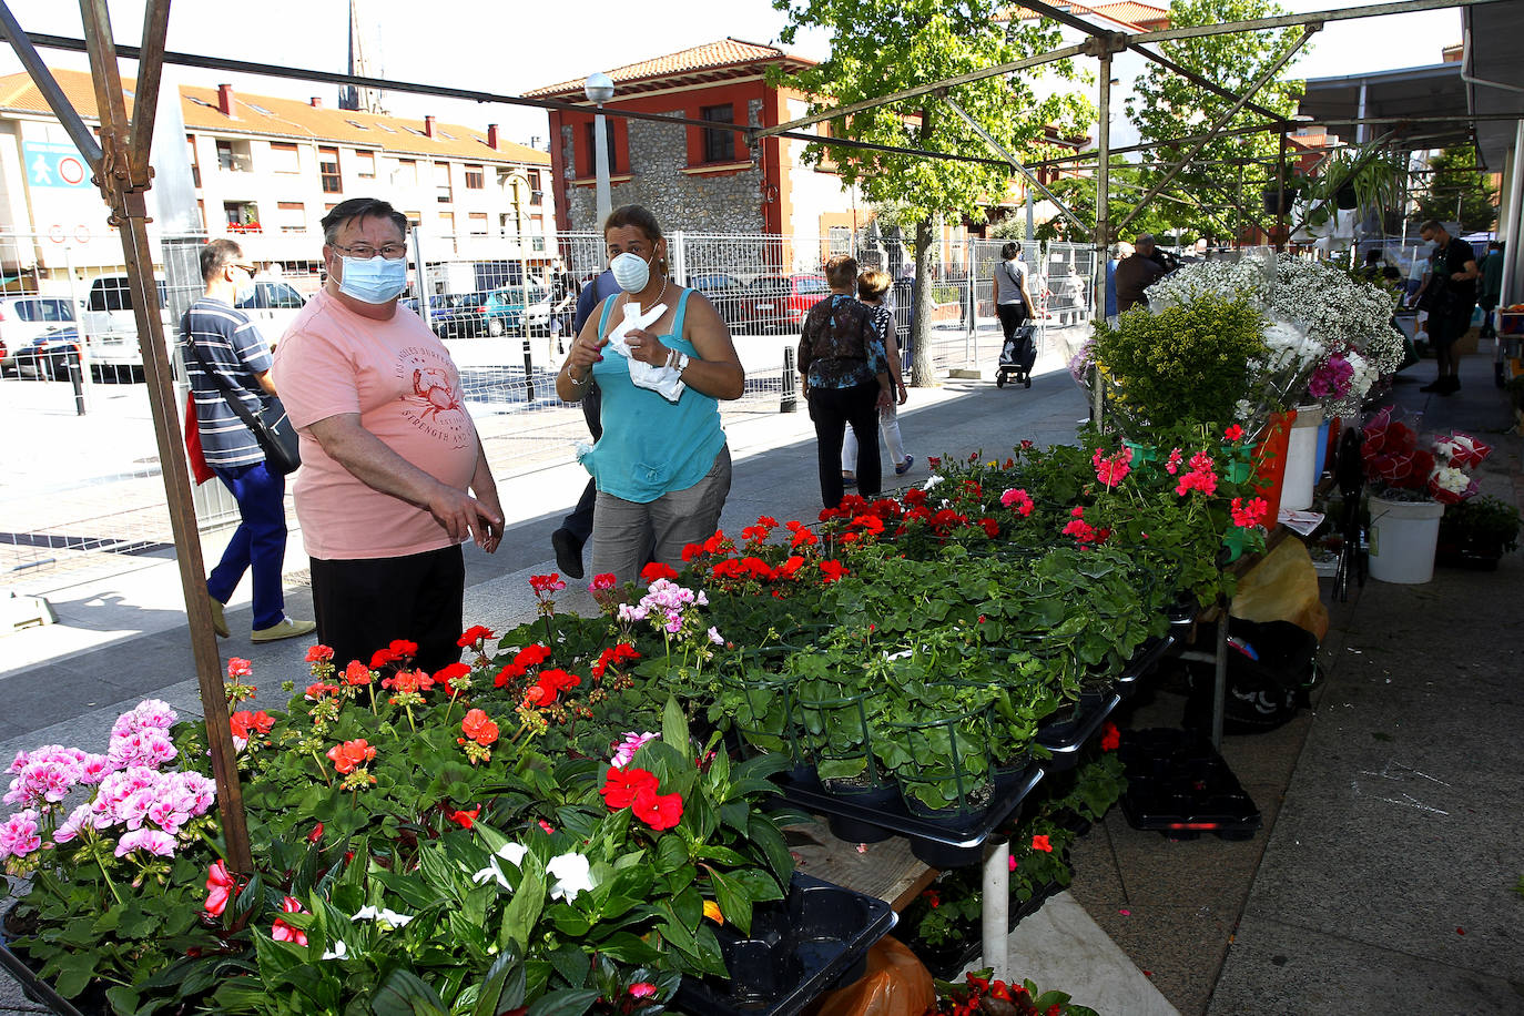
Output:
[[[251,571],[251,638],[262,643],[306,635],[317,625],[285,615],[285,593],[280,588],[287,539],[285,477],[265,466],[265,452],[253,431],[227,401],[236,396],[258,416],[265,399],[276,393],[270,379],[270,347],[253,321],[233,308],[238,291],[250,286],[253,276],[255,267],[244,260],[244,250],[233,241],[215,239],[203,247],[206,292],[180,318],[180,341],[187,344],[181,358],[195,393],[197,430],[206,465],[233,492],[242,519],[206,582],[212,599],[212,626],[223,638],[232,634],[223,606],[244,571]],[[195,350],[190,343],[195,343]],[[223,376],[230,393],[207,376],[203,361]]]

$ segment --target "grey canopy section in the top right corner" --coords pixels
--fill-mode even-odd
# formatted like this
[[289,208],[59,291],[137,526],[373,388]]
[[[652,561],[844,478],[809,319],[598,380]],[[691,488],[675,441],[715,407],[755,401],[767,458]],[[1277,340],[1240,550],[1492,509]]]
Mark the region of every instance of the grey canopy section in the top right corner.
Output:
[[[1481,163],[1501,172],[1513,149],[1519,117],[1524,117],[1524,0],[1484,3],[1462,11],[1466,56],[1462,61],[1466,97],[1477,120],[1477,151]],[[1512,116],[1513,119],[1507,119]]]

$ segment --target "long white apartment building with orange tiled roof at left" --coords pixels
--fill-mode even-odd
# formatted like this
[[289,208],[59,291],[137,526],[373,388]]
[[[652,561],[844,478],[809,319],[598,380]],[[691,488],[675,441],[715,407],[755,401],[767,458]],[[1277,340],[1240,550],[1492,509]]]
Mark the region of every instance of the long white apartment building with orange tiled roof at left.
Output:
[[[53,76],[85,122],[98,122],[90,76]],[[131,104],[134,82],[123,87]],[[181,87],[180,107],[198,230],[235,236],[251,259],[280,265],[299,283],[315,286],[323,215],[364,195],[419,224],[430,260],[535,262],[555,250],[550,155],[503,139],[497,125],[357,113],[232,85]],[[8,288],[52,291],[67,270],[119,270],[120,241],[105,219],[84,160],[30,78],[0,76]]]

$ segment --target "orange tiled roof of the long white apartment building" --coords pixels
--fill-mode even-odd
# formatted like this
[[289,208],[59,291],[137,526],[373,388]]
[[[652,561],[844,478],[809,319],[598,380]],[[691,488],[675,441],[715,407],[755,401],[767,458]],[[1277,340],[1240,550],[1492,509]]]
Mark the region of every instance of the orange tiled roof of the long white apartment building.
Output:
[[[82,70],[53,70],[53,79],[79,116],[98,120],[94,87],[90,75]],[[126,91],[126,111],[133,111],[133,88],[137,81],[122,79]],[[410,155],[442,155],[469,158],[483,163],[529,163],[549,166],[550,155],[527,145],[498,140],[497,148],[488,148],[486,131],[459,123],[434,122],[433,137],[425,136],[422,120],[355,113],[332,107],[314,107],[297,99],[233,93],[236,117],[226,116],[218,108],[216,88],[195,85],[180,87],[180,108],[186,129],[216,131],[219,134],[258,134],[268,137],[294,137],[303,140],[340,142],[358,148],[384,149]],[[32,84],[30,75],[0,76],[0,110],[18,113],[43,113],[52,116],[43,94]]]

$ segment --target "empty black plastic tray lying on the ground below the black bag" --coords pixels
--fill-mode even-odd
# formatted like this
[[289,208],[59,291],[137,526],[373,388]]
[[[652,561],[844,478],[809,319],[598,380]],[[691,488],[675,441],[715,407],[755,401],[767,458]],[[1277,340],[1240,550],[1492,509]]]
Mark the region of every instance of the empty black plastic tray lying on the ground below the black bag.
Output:
[[1248,839],[1263,824],[1227,762],[1195,731],[1128,731],[1117,754],[1128,774],[1122,813],[1134,829]]

